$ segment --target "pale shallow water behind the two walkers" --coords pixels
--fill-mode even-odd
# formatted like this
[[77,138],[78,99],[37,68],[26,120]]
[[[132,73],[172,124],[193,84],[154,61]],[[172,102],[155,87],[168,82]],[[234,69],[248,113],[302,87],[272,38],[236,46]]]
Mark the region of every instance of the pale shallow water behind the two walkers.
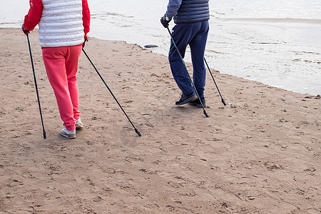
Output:
[[[20,27],[28,1],[0,2],[0,27]],[[151,50],[167,55],[170,37],[160,18],[168,0],[88,4],[89,36],[156,44]],[[210,0],[210,14],[205,51],[210,67],[290,91],[321,94],[321,1]]]

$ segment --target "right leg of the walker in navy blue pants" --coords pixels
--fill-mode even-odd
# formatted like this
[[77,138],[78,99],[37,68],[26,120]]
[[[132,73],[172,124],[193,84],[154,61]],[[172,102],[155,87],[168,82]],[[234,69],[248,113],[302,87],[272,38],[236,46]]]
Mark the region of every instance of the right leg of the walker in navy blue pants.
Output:
[[204,52],[208,39],[208,21],[200,23],[200,30],[190,41],[190,54],[193,63],[193,83],[200,98],[204,98],[204,88],[206,79],[206,68],[204,63]]

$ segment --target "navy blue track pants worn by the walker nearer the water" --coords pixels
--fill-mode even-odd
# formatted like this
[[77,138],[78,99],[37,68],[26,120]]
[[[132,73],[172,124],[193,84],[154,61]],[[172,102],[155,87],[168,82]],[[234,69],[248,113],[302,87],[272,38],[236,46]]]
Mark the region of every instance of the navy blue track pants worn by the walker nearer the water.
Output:
[[[190,46],[190,54],[193,63],[193,83],[200,98],[204,97],[206,68],[204,64],[204,52],[208,39],[208,21],[196,22],[192,24],[176,24],[173,27],[173,39],[180,54],[184,58],[186,47]],[[185,66],[177,53],[173,41],[170,41],[170,51],[168,54],[170,69],[178,87],[183,94],[188,95],[194,92],[190,83]]]

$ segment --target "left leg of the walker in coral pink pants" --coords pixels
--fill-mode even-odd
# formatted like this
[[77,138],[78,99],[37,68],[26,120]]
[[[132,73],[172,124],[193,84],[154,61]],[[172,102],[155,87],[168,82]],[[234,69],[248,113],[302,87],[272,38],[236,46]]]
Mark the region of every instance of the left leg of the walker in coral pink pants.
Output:
[[76,119],[73,118],[73,104],[71,102],[66,76],[66,47],[44,48],[42,55],[49,82],[56,96],[59,113],[63,125],[68,131],[75,130]]

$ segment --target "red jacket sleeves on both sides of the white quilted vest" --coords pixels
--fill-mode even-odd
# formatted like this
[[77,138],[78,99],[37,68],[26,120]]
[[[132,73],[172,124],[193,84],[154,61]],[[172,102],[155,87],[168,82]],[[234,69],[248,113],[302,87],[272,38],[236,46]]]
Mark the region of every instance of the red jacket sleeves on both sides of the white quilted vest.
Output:
[[[89,11],[87,0],[83,1],[83,32],[85,37],[90,31],[91,13]],[[34,30],[35,26],[39,24],[42,14],[42,1],[30,0],[30,9],[26,16],[24,16],[24,29],[26,31]]]

